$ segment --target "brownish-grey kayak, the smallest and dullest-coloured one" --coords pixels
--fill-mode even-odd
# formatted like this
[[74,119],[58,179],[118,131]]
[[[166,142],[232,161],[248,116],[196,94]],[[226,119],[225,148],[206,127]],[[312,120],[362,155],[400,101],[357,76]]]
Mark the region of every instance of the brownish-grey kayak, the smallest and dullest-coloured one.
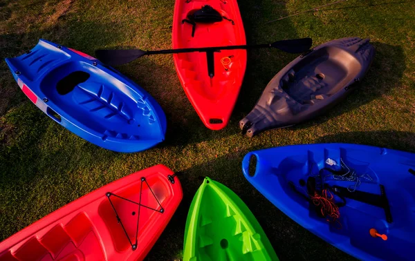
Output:
[[336,39],[300,55],[271,79],[251,112],[239,122],[252,137],[300,124],[347,97],[374,59],[369,39]]

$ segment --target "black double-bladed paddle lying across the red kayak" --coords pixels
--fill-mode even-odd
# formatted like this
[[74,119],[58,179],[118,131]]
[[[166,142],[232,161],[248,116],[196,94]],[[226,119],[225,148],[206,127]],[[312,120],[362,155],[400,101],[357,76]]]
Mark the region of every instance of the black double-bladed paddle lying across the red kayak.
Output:
[[[274,43],[264,43],[256,45],[243,45],[243,46],[216,46],[216,47],[202,47],[202,48],[181,48],[181,49],[169,49],[169,50],[95,50],[96,57],[104,64],[111,66],[119,66],[121,64],[128,64],[129,62],[138,59],[144,55],[166,55],[172,53],[183,52],[206,52],[208,57],[208,63],[210,59],[213,59],[214,52],[220,52],[220,50],[235,50],[235,49],[255,49],[255,48],[277,48],[284,52],[300,53],[306,52],[311,48],[313,40],[311,38],[302,39],[288,39],[282,41],[275,41]],[[212,76],[211,76],[212,77]]]

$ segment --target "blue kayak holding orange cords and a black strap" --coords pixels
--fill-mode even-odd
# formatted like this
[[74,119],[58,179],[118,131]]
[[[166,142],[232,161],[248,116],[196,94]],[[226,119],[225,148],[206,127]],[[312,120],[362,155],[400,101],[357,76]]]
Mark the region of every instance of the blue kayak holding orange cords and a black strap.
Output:
[[342,251],[360,260],[414,260],[414,153],[284,146],[248,153],[242,170],[282,212]]

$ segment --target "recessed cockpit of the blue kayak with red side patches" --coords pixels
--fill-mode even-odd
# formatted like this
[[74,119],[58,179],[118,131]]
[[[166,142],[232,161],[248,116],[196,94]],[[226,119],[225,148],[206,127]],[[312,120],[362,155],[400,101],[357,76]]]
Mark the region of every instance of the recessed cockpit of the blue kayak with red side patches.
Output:
[[[106,72],[74,61],[51,70],[40,90],[70,117],[108,137],[158,139],[160,129],[145,97]],[[60,114],[60,113],[59,113]],[[93,115],[93,117],[91,117]]]

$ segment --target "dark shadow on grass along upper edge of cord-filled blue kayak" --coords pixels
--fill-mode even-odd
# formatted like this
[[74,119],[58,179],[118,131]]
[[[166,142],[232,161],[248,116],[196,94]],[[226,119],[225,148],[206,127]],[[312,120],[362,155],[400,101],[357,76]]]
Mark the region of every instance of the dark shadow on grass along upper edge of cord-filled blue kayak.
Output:
[[415,152],[415,133],[407,131],[356,131],[336,133],[317,139],[317,143],[356,143]]

